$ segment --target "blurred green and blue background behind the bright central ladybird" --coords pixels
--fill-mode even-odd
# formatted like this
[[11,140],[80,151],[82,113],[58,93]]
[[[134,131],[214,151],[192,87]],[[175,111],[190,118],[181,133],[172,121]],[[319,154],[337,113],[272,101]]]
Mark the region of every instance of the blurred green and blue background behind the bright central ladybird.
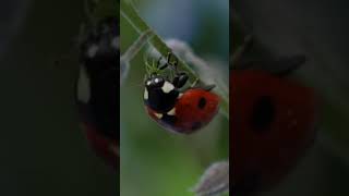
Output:
[[[208,0],[135,1],[141,16],[161,38],[178,38],[202,58],[215,58],[228,72],[229,2]],[[121,53],[139,37],[121,17]],[[143,51],[131,61],[120,91],[121,195],[185,196],[213,162],[229,157],[228,120],[218,114],[193,135],[159,127],[145,112]]]

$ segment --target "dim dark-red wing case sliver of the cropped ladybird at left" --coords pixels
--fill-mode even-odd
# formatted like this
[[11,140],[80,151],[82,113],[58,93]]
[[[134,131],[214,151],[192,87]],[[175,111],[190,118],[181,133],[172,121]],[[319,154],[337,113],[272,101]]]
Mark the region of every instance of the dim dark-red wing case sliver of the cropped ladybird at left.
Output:
[[85,132],[86,138],[98,157],[103,158],[106,163],[112,168],[119,164],[119,145],[116,139],[106,137],[97,132],[92,125],[81,123],[82,130]]

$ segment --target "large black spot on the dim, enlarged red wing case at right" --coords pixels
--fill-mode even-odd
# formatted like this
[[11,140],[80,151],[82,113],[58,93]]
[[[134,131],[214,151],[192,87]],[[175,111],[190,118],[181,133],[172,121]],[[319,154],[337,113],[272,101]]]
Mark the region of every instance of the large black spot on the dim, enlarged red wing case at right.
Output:
[[253,106],[251,117],[252,130],[257,133],[267,131],[275,119],[275,105],[272,97],[260,97]]

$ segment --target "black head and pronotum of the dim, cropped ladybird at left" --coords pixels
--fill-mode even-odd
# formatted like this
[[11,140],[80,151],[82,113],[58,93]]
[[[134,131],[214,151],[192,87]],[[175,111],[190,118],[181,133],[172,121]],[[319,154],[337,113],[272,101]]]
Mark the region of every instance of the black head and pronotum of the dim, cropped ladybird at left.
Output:
[[119,21],[107,17],[88,29],[81,42],[77,102],[83,115],[105,134],[117,138],[119,102]]

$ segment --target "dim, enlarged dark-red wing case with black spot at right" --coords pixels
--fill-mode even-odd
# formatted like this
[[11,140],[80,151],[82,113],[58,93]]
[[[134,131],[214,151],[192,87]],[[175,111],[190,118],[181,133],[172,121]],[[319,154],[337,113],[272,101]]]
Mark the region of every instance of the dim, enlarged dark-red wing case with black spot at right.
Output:
[[230,74],[233,192],[276,185],[315,136],[313,90],[262,71]]

